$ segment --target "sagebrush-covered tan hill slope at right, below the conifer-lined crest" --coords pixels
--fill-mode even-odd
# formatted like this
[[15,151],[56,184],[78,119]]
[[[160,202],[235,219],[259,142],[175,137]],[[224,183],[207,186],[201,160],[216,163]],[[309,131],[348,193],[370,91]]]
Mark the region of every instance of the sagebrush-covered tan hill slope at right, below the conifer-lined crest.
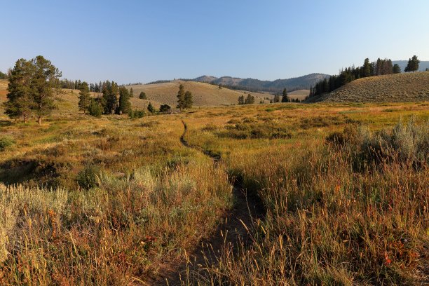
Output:
[[357,79],[320,98],[326,102],[416,102],[429,100],[429,71]]

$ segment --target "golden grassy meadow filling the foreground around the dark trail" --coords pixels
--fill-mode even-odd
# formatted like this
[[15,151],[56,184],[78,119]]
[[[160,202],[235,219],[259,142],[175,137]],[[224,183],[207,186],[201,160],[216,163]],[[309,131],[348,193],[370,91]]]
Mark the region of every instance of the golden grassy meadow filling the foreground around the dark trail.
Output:
[[429,282],[427,102],[70,114],[0,118],[1,285],[174,285],[237,187],[264,218],[182,284]]

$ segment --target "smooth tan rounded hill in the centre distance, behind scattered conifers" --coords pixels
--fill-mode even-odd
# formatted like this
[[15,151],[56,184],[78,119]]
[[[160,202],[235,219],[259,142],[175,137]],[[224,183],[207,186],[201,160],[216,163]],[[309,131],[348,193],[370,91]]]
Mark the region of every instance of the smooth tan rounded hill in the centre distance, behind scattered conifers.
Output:
[[[139,96],[139,93],[144,91],[149,100],[162,102],[175,107],[177,104],[177,90],[179,85],[183,84],[185,90],[189,90],[193,96],[194,106],[219,106],[219,105],[231,105],[237,104],[238,97],[243,95],[244,92],[237,90],[230,90],[228,88],[219,89],[217,86],[213,86],[208,83],[198,83],[194,81],[171,81],[168,83],[156,83],[139,86],[128,86],[127,88],[134,90],[135,97]],[[246,94],[248,92],[245,92]],[[265,95],[261,93],[250,93],[254,95],[255,102],[259,103],[264,97],[271,97],[271,95]],[[265,100],[269,102],[269,100]]]

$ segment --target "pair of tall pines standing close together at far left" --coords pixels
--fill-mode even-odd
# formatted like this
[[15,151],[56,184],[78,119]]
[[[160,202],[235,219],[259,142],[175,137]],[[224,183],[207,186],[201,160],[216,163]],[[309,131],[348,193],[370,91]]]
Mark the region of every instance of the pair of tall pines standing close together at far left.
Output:
[[24,121],[34,115],[41,124],[42,116],[55,109],[53,95],[60,76],[61,72],[41,55],[15,62],[9,77],[5,113],[14,119],[22,117]]

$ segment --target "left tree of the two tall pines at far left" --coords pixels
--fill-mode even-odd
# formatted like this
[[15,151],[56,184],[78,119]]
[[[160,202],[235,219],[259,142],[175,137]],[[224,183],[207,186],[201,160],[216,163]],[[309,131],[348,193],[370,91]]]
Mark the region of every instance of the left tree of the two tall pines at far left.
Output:
[[17,60],[11,70],[8,83],[7,101],[4,102],[5,113],[13,119],[22,116],[24,122],[31,115],[34,105],[30,84],[34,72],[31,61]]

